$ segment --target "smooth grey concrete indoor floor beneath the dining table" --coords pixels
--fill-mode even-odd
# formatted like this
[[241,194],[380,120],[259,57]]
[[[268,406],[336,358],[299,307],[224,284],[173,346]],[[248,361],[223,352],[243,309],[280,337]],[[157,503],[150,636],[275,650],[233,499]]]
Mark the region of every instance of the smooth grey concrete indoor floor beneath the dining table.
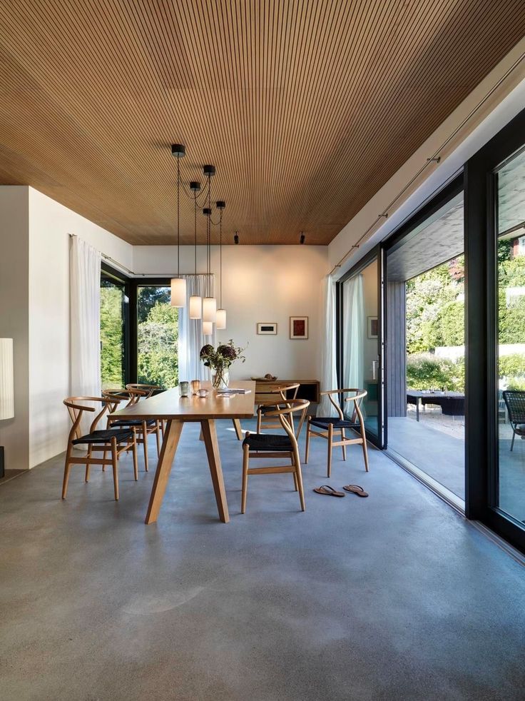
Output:
[[[250,478],[220,423],[231,521],[216,518],[198,428],[186,426],[156,525],[153,470],[132,479],[61,459],[0,488],[0,697],[24,700],[522,700],[525,569],[371,450],[325,442],[304,469]],[[153,457],[154,448],[151,445]]]

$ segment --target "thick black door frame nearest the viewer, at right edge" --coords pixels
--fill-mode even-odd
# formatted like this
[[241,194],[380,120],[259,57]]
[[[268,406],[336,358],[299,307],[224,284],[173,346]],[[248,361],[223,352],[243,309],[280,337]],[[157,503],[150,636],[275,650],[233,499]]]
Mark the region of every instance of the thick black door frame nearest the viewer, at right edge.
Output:
[[[525,144],[525,110],[465,164],[466,292],[469,344],[468,518],[489,526],[525,553],[525,526],[495,507],[499,477],[496,397],[498,343],[496,198],[494,171]],[[467,259],[467,256],[466,256]]]

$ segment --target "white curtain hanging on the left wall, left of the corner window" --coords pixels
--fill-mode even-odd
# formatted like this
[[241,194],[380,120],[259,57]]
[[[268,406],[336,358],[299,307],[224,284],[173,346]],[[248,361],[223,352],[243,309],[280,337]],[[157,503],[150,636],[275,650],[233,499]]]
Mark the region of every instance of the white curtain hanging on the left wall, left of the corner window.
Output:
[[101,254],[71,237],[71,394],[101,395]]

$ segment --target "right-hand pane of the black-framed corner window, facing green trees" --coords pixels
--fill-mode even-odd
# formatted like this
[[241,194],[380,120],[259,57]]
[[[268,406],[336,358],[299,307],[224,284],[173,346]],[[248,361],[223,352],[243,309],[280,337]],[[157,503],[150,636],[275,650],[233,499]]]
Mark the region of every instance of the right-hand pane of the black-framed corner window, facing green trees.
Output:
[[137,286],[137,381],[168,389],[178,385],[178,309],[170,287]]

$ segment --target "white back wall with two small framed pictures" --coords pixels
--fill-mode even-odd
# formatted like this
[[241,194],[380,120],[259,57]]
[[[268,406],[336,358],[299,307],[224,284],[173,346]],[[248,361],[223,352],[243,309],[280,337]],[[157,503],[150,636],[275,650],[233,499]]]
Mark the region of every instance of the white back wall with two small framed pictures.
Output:
[[[183,246],[180,272],[195,271],[193,247]],[[170,275],[174,246],[135,246],[136,273]],[[204,272],[204,248],[198,248],[198,272]],[[202,263],[202,264],[201,264]],[[228,328],[218,341],[233,338],[246,346],[246,362],[235,363],[233,378],[272,373],[282,379],[320,379],[322,343],[321,281],[327,273],[327,246],[223,246],[223,306]],[[212,250],[218,296],[218,248]],[[307,341],[292,341],[290,316],[309,318]],[[277,322],[277,336],[258,336],[260,321]],[[191,378],[188,378],[191,379]]]

